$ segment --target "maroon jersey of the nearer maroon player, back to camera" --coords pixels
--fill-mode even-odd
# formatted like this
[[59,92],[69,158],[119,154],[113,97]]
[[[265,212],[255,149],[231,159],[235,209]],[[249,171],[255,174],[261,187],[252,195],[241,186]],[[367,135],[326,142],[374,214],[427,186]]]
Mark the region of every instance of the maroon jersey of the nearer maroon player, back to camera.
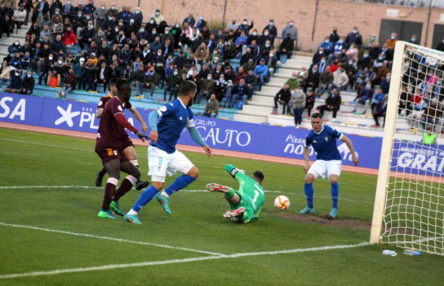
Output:
[[[104,97],[106,98],[106,97]],[[107,99],[102,117],[99,123],[99,130],[97,131],[96,150],[104,150],[112,148],[118,151],[122,149],[121,143],[121,129],[123,128],[115,116],[117,114],[123,115],[124,106],[119,98],[113,97]]]

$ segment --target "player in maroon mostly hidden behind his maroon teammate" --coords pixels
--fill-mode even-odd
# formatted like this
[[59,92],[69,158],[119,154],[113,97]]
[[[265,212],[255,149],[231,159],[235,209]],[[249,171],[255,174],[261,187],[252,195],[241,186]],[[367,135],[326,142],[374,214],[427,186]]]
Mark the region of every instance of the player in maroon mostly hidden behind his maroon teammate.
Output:
[[[117,94],[117,88],[115,86],[115,83],[117,82],[117,80],[118,80],[118,78],[112,78],[110,80],[110,94],[108,94],[100,99],[99,104],[97,105],[97,109],[96,109],[97,118],[102,117],[102,113],[103,113],[103,109],[104,109],[105,105],[107,104],[107,102],[111,98],[115,97],[115,95]],[[134,117],[136,117],[136,119],[139,120],[139,122],[142,124],[142,132],[147,132],[148,126],[145,123],[145,120],[140,115],[140,113],[136,110],[136,108],[132,107],[132,105],[129,102],[125,103],[125,108],[130,110],[133,113]],[[134,164],[134,166],[136,166],[139,169],[139,162],[137,161],[137,154],[136,154],[136,149],[134,148],[134,143],[131,140],[131,137],[129,137],[128,133],[126,133],[124,128],[121,129],[120,140],[122,141],[123,154],[131,163]],[[107,173],[107,170],[105,169],[105,167],[102,170],[97,172],[96,186],[98,186],[98,187],[102,186],[102,180],[103,180],[103,177],[105,176],[106,173]],[[146,188],[147,186],[148,186],[148,181],[140,181],[139,180],[136,183],[136,190],[139,191],[143,188]]]

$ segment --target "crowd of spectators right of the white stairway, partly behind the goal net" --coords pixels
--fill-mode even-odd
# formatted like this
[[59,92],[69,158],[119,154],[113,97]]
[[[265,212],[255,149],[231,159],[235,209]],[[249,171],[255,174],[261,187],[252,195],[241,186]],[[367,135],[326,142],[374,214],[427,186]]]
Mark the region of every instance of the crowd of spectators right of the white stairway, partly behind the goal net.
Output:
[[[308,116],[313,107],[321,114],[331,110],[336,118],[342,104],[340,93],[348,91],[356,94],[352,113],[364,106],[359,113],[366,114],[371,107],[375,121],[372,127],[381,126],[380,117],[383,117],[384,126],[396,41],[397,35],[392,33],[380,46],[375,35],[364,42],[357,27],[346,36],[339,36],[337,28],[333,27],[332,34],[319,44],[308,69],[302,67],[299,72],[293,72],[276,94],[275,112],[282,104],[282,114],[293,114],[296,127],[301,124],[300,114],[304,109]],[[411,36],[410,42],[418,43],[416,35]],[[436,49],[444,51],[444,38]],[[416,124],[419,129],[428,129],[426,124],[429,123],[439,125],[441,130],[444,125],[443,63],[411,54],[405,57],[404,66],[401,115],[420,122]],[[325,104],[316,106],[315,98],[324,98]]]

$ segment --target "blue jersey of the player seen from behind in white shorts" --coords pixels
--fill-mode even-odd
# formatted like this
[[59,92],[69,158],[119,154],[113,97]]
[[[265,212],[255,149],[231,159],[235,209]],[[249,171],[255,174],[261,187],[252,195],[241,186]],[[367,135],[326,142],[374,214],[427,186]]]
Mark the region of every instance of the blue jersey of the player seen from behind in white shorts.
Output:
[[149,143],[168,154],[176,151],[176,144],[184,127],[194,126],[193,111],[186,107],[180,99],[173,100],[156,110],[160,120],[157,122],[159,137],[157,143]]

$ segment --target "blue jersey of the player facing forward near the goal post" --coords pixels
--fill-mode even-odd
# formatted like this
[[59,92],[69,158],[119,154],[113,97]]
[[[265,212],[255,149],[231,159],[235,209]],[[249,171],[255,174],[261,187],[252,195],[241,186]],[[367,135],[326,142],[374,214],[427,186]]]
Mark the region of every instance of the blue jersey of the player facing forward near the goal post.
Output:
[[319,133],[310,131],[305,137],[305,146],[313,146],[318,160],[340,160],[341,155],[336,146],[336,139],[342,139],[342,133],[330,126],[324,125]]

